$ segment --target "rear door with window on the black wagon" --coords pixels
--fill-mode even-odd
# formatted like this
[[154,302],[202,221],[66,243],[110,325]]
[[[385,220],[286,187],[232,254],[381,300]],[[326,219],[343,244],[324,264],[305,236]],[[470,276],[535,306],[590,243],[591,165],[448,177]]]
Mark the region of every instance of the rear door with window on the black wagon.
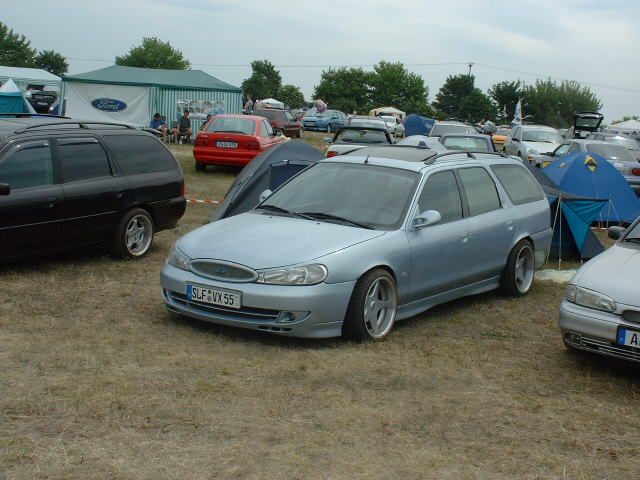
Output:
[[58,139],[64,228],[75,244],[108,240],[122,215],[129,182],[115,171],[95,137]]

